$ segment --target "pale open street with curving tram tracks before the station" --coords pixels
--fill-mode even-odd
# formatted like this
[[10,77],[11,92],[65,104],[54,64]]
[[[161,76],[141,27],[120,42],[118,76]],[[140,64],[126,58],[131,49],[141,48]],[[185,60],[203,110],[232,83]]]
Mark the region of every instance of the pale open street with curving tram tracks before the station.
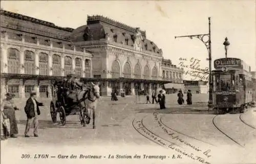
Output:
[[[47,152],[48,154],[48,149],[49,151],[55,150],[53,151],[55,154],[56,150],[60,150],[59,153],[63,154],[63,152],[69,152],[71,147],[72,152],[73,147],[78,147],[78,149],[90,150],[94,154],[105,151],[105,149],[108,150],[110,147],[113,151],[118,147],[123,151],[126,148],[129,148],[130,151],[134,150],[130,147],[136,148],[138,151],[152,147],[164,152],[161,147],[166,148],[166,143],[173,143],[187,153],[195,155],[198,154],[196,149],[200,149],[202,152],[211,150],[209,153],[211,156],[214,154],[220,156],[220,151],[223,151],[223,156],[237,153],[234,160],[252,162],[253,156],[250,156],[249,153],[255,150],[253,142],[256,138],[255,109],[248,109],[243,114],[216,116],[215,111],[207,111],[206,95],[194,95],[194,104],[191,106],[176,105],[176,95],[167,95],[166,97],[167,108],[164,110],[160,110],[158,104],[145,104],[144,97],[141,97],[139,103],[136,103],[135,97],[119,97],[117,102],[111,102],[110,97],[102,97],[96,112],[96,129],[92,129],[92,125],[82,127],[78,115],[67,116],[65,126],[58,123],[59,117],[57,117],[57,123],[53,124],[49,109],[50,99],[38,99],[45,104],[41,108],[39,116],[39,137],[30,138],[24,137],[26,125],[24,106],[26,102],[25,100],[15,100],[20,108],[20,111],[16,112],[19,135],[18,138],[1,141],[3,148],[1,150],[4,150],[4,156],[14,153],[17,148],[24,150],[24,152],[16,153],[18,156],[26,152],[31,153],[33,149],[42,150],[42,153]],[[32,130],[30,133],[33,134]],[[166,143],[161,145],[160,141],[156,142],[159,139],[151,137],[159,137],[161,142]],[[183,143],[189,143],[190,147]],[[101,148],[92,151],[95,150],[92,149],[93,147],[98,146]],[[110,150],[108,152],[111,153]],[[127,154],[127,151],[124,152]],[[177,153],[174,150],[168,152]],[[206,157],[205,154],[203,156]],[[208,158],[210,159],[210,157]],[[195,161],[195,163],[198,162]]]

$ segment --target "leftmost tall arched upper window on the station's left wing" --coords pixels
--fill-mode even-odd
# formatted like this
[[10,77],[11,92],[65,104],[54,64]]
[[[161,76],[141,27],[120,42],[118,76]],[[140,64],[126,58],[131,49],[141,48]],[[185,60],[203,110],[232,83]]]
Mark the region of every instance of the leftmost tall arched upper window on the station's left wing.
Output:
[[8,73],[20,73],[19,51],[17,49],[8,49]]

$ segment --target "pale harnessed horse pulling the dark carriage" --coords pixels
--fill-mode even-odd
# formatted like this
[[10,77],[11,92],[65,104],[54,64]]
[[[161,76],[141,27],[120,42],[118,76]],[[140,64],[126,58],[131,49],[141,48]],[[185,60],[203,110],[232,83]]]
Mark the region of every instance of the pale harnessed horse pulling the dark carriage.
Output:
[[95,110],[97,107],[98,99],[100,98],[99,84],[92,83],[92,87],[86,90],[80,90],[77,94],[78,104],[82,108],[81,116],[86,119],[83,120],[87,124],[90,124],[91,118],[93,118],[93,129],[95,129]]

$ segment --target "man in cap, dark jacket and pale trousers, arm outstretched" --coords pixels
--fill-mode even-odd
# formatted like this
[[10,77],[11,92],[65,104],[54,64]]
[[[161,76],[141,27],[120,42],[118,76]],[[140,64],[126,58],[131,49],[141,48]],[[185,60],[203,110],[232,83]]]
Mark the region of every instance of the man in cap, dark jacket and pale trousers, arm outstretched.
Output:
[[25,106],[25,113],[27,114],[27,124],[25,129],[25,137],[29,137],[29,129],[31,124],[34,125],[34,136],[38,137],[38,120],[37,116],[40,115],[39,106],[44,106],[42,103],[38,103],[36,100],[36,91],[32,90],[30,92],[30,98],[27,100]]

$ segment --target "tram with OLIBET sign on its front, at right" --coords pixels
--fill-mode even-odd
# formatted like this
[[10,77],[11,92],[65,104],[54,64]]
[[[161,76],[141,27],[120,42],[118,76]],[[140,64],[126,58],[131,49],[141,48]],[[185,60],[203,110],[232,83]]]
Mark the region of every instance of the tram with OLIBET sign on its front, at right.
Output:
[[214,61],[213,104],[217,112],[244,112],[253,100],[250,66],[238,58],[220,58]]

